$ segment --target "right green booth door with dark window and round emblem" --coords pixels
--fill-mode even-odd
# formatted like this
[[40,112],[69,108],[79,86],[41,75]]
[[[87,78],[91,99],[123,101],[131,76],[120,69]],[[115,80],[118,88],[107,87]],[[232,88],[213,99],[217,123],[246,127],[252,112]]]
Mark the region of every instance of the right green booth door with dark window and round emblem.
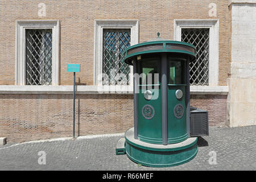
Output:
[[186,60],[167,57],[168,73],[168,143],[187,139],[187,117],[185,106]]

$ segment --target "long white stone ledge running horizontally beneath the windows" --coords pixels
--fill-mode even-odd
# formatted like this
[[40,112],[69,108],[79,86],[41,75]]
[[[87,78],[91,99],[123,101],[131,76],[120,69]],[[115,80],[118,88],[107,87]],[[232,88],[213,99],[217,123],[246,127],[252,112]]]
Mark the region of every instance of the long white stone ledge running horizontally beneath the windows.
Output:
[[[227,95],[228,86],[190,86],[191,94]],[[72,94],[73,85],[0,85],[0,94]],[[77,85],[76,94],[133,94],[132,86]]]

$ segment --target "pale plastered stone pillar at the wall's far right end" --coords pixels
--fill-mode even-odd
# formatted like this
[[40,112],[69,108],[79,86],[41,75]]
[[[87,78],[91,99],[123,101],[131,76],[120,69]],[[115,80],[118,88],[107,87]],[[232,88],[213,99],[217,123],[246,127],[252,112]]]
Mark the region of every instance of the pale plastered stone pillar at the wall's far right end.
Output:
[[255,14],[256,1],[234,1],[230,4],[231,54],[227,121],[232,127],[256,125]]

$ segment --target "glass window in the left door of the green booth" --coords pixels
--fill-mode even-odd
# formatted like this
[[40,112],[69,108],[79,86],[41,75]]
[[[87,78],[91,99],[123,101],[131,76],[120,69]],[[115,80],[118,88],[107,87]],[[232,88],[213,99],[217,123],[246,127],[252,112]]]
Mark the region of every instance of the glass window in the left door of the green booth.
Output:
[[[159,84],[159,57],[144,58],[139,60],[139,84]],[[156,81],[157,80],[157,81]]]

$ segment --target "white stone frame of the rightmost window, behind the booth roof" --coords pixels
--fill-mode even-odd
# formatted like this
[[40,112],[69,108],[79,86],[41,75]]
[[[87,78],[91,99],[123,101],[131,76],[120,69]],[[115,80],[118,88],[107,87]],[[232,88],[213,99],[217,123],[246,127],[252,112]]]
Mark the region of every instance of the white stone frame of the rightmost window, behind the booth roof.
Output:
[[209,86],[218,86],[218,19],[174,19],[174,40],[181,41],[181,28],[209,28]]

